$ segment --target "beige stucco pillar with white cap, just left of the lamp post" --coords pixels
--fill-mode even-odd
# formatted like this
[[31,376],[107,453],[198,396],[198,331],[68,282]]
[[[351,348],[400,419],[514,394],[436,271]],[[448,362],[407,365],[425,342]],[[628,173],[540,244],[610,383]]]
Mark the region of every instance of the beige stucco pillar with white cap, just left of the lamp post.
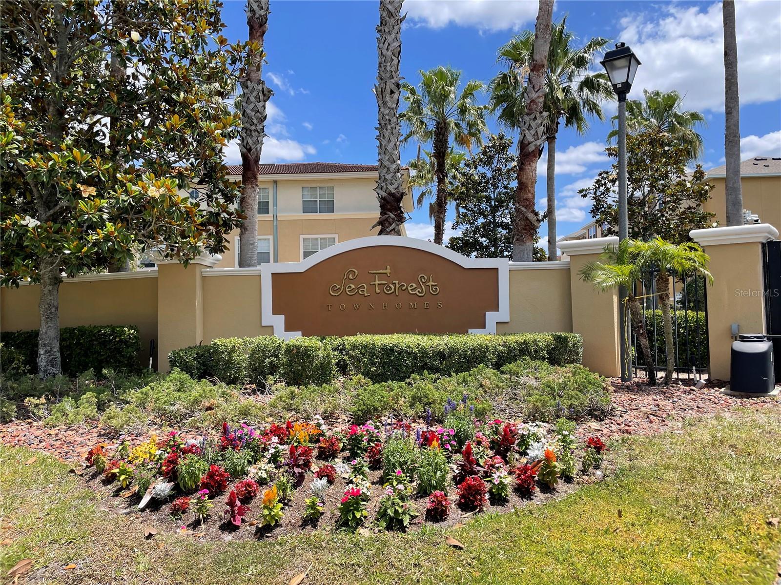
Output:
[[597,260],[604,246],[618,243],[619,239],[615,236],[558,243],[562,254],[569,256],[572,332],[583,335],[583,365],[612,378],[621,375],[619,292],[612,289],[600,293],[594,289],[594,283],[583,281],[578,273],[583,264]]

